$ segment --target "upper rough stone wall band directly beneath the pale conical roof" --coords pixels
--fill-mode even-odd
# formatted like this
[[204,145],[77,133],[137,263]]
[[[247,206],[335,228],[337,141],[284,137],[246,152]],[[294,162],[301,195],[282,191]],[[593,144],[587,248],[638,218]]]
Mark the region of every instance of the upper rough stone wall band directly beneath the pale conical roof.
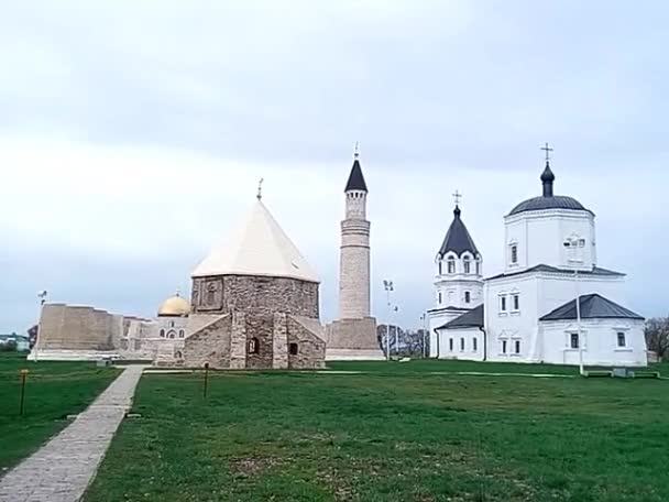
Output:
[[296,279],[223,275],[193,280],[194,313],[224,314],[234,309],[318,318],[318,283]]

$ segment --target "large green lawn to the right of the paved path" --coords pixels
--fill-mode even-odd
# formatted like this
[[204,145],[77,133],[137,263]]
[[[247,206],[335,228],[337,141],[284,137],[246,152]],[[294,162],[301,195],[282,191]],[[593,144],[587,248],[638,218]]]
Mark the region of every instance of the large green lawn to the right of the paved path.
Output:
[[144,375],[86,500],[669,500],[668,381],[333,367]]

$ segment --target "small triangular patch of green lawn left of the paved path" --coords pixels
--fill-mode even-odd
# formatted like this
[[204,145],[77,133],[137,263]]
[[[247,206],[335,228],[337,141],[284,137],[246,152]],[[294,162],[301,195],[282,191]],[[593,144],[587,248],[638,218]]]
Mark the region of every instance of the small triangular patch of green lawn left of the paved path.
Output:
[[[19,370],[30,370],[24,415],[19,415]],[[24,354],[0,352],[0,476],[32,454],[81,412],[119,370],[86,362],[32,362]]]

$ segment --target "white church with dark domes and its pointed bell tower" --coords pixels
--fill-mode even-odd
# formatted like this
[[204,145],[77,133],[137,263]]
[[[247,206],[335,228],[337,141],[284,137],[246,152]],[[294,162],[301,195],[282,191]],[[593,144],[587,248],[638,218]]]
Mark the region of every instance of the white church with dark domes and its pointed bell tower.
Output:
[[548,160],[540,179],[542,194],[504,217],[504,272],[487,279],[456,204],[435,261],[430,356],[646,365],[644,318],[623,306],[625,274],[597,266],[594,212],[553,194]]

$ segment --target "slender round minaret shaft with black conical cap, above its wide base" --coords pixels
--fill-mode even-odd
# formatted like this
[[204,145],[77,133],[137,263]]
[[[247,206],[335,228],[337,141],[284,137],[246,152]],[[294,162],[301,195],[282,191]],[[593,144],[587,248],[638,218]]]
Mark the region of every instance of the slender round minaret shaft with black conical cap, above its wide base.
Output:
[[370,317],[370,222],[368,186],[360,167],[358,145],[344,188],[346,219],[341,222],[339,318]]

